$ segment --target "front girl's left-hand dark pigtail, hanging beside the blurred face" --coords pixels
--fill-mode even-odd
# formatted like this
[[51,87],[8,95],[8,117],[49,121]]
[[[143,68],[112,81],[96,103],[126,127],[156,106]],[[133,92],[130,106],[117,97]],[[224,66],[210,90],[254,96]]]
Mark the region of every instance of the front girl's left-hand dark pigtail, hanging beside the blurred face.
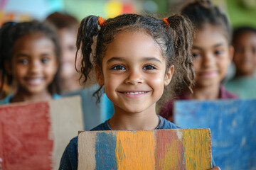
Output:
[[[85,77],[85,81],[87,81],[90,72],[93,69],[93,63],[90,60],[90,55],[92,54],[92,43],[93,37],[97,35],[99,32],[99,25],[98,25],[99,18],[97,16],[87,16],[86,18],[82,19],[80,23],[80,27],[78,28],[78,37],[76,41],[77,52],[75,55],[75,63],[78,60],[78,51],[81,48],[82,52],[82,61],[81,61],[81,76]],[[77,69],[77,67],[75,66]],[[78,69],[77,69],[78,71]]]

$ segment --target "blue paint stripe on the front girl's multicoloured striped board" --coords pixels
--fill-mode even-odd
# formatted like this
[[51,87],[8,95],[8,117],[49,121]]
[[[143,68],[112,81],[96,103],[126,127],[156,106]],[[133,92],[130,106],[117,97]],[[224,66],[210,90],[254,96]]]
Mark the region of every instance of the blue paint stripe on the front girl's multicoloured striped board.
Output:
[[117,159],[115,156],[115,148],[117,144],[117,136],[98,132],[95,141],[95,169],[117,169]]

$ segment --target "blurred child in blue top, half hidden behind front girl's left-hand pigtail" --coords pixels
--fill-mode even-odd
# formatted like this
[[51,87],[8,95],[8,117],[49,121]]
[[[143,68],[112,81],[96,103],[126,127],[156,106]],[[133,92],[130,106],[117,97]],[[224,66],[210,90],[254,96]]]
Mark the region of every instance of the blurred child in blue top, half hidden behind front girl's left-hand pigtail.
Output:
[[[60,87],[63,96],[79,95],[82,98],[82,113],[84,118],[85,130],[90,130],[114,113],[111,101],[105,94],[102,96],[101,103],[96,103],[92,98],[95,89],[98,88],[95,79],[95,72],[90,72],[90,79],[80,86],[80,55],[78,54],[75,63],[76,37],[78,34],[78,20],[65,13],[52,13],[46,21],[53,24],[58,30],[60,40]],[[76,65],[75,65],[76,64]],[[76,68],[75,68],[76,66]],[[78,71],[76,70],[78,69]],[[101,107],[103,109],[101,109]]]

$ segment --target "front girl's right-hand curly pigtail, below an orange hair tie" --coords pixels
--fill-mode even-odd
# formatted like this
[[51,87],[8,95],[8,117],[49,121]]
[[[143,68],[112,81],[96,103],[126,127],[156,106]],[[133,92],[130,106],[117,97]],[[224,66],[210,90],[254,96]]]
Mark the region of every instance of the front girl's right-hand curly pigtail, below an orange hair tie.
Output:
[[[175,74],[174,72],[173,78],[179,80],[180,84],[178,85],[180,86],[185,83],[193,93],[192,86],[195,78],[193,56],[191,54],[194,34],[193,24],[188,18],[178,14],[167,18],[167,21],[173,31],[174,60],[178,62],[174,66],[175,72],[181,72],[181,74]],[[179,75],[183,75],[183,77],[178,77]]]

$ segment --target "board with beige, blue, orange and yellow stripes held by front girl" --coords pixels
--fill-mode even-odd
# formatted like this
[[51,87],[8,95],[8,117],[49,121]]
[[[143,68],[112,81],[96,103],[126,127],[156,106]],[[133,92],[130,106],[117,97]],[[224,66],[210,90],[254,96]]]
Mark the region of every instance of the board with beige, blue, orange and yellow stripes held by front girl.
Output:
[[210,130],[108,130],[78,135],[78,170],[210,169]]

